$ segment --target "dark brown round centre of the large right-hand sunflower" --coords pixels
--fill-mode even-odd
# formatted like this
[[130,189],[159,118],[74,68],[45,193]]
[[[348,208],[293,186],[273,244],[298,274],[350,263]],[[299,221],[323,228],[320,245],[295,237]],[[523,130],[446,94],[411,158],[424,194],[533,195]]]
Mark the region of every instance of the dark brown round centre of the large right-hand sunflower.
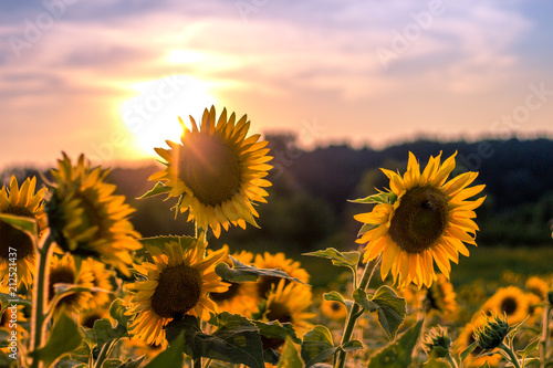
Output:
[[409,189],[392,218],[389,235],[408,253],[420,253],[438,240],[448,223],[448,200],[430,187]]

